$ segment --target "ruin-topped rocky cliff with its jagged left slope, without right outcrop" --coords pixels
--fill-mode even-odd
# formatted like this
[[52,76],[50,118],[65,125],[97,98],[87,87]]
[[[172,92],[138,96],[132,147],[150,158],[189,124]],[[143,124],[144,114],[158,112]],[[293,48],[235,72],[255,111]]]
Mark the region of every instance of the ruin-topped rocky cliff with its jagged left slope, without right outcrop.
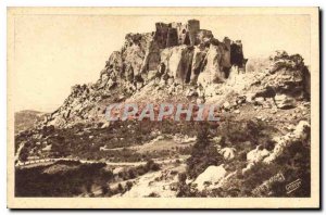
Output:
[[[156,23],[155,31],[127,34],[122,49],[114,51],[96,84],[77,85],[64,104],[45,124],[67,126],[100,121],[105,104],[123,101],[151,83],[202,86],[224,83],[231,68],[246,69],[240,40],[222,41],[199,21]],[[162,83],[163,81],[163,83]]]

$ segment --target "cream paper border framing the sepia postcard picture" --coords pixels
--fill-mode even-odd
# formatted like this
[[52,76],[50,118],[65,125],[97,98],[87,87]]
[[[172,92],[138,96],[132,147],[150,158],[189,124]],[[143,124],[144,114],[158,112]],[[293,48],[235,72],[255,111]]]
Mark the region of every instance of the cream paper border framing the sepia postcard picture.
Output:
[[[310,26],[310,42],[302,43],[304,49],[310,51],[305,52],[305,59],[310,61],[311,69],[311,198],[220,198],[220,199],[192,199],[192,198],[16,198],[14,197],[14,112],[22,105],[21,100],[24,100],[25,87],[36,84],[28,79],[27,71],[17,71],[20,68],[21,58],[15,52],[15,46],[20,46],[17,35],[24,36],[24,33],[17,33],[17,25],[24,25],[24,23],[17,23],[17,21],[26,20],[35,16],[37,20],[34,22],[37,24],[42,22],[39,20],[41,16],[47,17],[62,17],[68,18],[74,16],[80,16],[83,22],[80,25],[85,25],[89,16],[113,16],[115,18],[115,25],[124,26],[125,22],[129,22],[130,17],[146,17],[152,20],[152,17],[193,17],[203,16],[204,18],[211,18],[217,22],[218,16],[243,16],[246,18],[259,18],[259,16],[273,17],[286,17],[287,15],[299,15],[300,17],[309,17],[308,23],[302,23],[302,26]],[[27,18],[28,17],[28,18]],[[163,18],[163,20],[164,20]],[[47,22],[46,20],[43,22]],[[86,23],[85,23],[86,22]],[[89,21],[90,22],[90,21]],[[302,18],[302,22],[306,20]],[[145,25],[145,23],[142,23]],[[128,24],[128,26],[137,25],[137,23]],[[37,29],[37,26],[36,28]],[[33,28],[29,30],[34,30]],[[103,29],[105,30],[105,29]],[[246,30],[246,26],[239,29],[239,34]],[[254,34],[254,33],[253,33]],[[9,8],[8,9],[8,207],[10,208],[297,208],[297,207],[318,207],[319,206],[319,36],[318,36],[318,9],[317,8]],[[83,35],[80,36],[83,37]],[[300,36],[298,36],[300,37]],[[235,38],[236,39],[236,38]],[[306,38],[299,38],[302,41],[306,41]],[[55,35],[49,39],[55,40]],[[37,40],[35,47],[37,48]],[[91,43],[92,41],[89,40]],[[112,42],[112,41],[111,41]],[[114,42],[114,41],[113,41]],[[33,46],[29,45],[29,46]],[[260,43],[258,46],[269,46]],[[22,48],[21,48],[22,51]],[[47,54],[47,50],[43,50],[42,54]],[[110,53],[108,53],[110,54]],[[39,61],[33,55],[29,61]],[[70,61],[78,61],[72,56],[67,59],[66,64]],[[87,61],[84,59],[83,61]],[[62,65],[64,66],[64,65]],[[90,67],[91,68],[91,67]],[[28,71],[34,73],[33,68]],[[53,71],[49,71],[51,73]],[[16,77],[16,74],[21,74],[21,77]],[[97,73],[98,76],[99,73]],[[59,74],[64,75],[64,74]],[[26,76],[26,86],[22,86]],[[30,74],[33,76],[33,74]],[[54,77],[54,75],[53,75]],[[20,85],[17,81],[20,80]],[[27,89],[26,89],[27,90]],[[37,89],[34,89],[37,92]],[[51,89],[49,89],[51,90]],[[38,91],[38,93],[42,93]],[[62,92],[64,93],[64,91]],[[65,93],[67,96],[67,93]],[[46,99],[46,97],[38,96],[39,100]],[[24,100],[27,102],[27,100]],[[46,101],[51,103],[52,101]],[[57,104],[58,101],[52,102]],[[39,103],[39,106],[42,104]],[[51,106],[52,108],[52,106]],[[51,109],[49,108],[49,109]],[[48,109],[48,108],[45,108]]]

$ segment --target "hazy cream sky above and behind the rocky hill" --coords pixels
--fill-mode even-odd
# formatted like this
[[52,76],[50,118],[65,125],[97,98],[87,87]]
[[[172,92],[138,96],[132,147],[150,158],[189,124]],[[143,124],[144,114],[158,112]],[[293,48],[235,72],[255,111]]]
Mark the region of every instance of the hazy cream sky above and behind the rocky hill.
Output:
[[15,17],[15,111],[51,112],[75,84],[93,83],[127,33],[154,30],[155,22],[200,21],[215,38],[240,39],[246,58],[274,50],[300,53],[310,64],[309,15],[110,16],[20,15]]

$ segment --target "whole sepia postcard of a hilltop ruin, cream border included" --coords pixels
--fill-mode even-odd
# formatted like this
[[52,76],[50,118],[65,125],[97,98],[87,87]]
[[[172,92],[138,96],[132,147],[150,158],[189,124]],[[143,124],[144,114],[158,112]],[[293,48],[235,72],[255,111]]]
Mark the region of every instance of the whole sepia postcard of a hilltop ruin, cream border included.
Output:
[[8,206],[319,207],[318,16],[8,8]]

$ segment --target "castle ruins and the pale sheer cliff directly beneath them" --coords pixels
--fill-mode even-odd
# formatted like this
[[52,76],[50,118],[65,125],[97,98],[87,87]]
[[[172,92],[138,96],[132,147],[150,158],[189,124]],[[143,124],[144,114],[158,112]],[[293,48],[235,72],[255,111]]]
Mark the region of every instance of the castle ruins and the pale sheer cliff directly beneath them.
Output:
[[[218,41],[211,30],[200,29],[197,20],[184,25],[158,23],[154,40],[161,49],[160,63],[156,52],[150,54],[154,63],[147,68],[164,65],[177,81],[196,84],[199,76],[204,83],[224,81],[234,65],[241,68],[246,64],[240,40],[233,42],[225,37]],[[170,50],[162,50],[163,47]]]

